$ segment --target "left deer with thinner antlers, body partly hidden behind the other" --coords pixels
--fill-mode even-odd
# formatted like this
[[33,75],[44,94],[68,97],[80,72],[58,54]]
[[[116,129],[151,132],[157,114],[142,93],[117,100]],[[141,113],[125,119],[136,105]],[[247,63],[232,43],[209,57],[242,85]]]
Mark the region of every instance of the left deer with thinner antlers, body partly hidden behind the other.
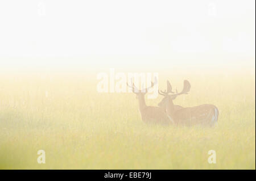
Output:
[[[131,81],[132,83],[132,81]],[[136,94],[136,98],[139,102],[139,112],[141,113],[142,121],[146,124],[162,124],[168,125],[171,124],[170,117],[164,111],[162,107],[154,107],[154,106],[147,106],[145,102],[145,94],[147,93],[148,89],[151,89],[157,83],[157,79],[155,77],[154,83],[151,82],[151,86],[147,87],[146,89],[139,90],[136,86],[129,85],[134,94]]]

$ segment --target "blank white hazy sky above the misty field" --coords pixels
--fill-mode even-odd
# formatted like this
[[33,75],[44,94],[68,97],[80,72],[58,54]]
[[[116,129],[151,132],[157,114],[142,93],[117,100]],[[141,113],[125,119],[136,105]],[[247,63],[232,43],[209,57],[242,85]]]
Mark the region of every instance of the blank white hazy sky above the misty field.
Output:
[[88,56],[255,61],[255,0],[0,1],[1,66]]

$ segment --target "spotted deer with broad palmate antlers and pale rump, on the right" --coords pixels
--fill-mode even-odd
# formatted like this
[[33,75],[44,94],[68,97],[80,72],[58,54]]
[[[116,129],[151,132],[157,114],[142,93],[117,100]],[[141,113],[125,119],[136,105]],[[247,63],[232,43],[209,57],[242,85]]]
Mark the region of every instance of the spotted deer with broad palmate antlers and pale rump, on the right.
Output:
[[167,90],[158,90],[158,93],[164,96],[158,106],[166,110],[166,113],[175,125],[204,125],[213,127],[217,124],[218,120],[218,108],[213,104],[201,104],[195,107],[175,109],[173,100],[179,95],[188,94],[190,88],[190,83],[184,80],[183,90],[177,92],[176,89],[176,92],[173,92],[171,83],[167,81]]

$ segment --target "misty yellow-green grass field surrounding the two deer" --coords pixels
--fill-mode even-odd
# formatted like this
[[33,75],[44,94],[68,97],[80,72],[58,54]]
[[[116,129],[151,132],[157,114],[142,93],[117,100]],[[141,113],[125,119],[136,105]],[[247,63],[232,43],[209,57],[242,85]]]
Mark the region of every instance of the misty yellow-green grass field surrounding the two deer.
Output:
[[146,125],[133,93],[98,93],[96,77],[1,74],[0,169],[255,169],[255,74],[159,73],[160,89],[191,82],[175,104],[216,105],[215,128]]

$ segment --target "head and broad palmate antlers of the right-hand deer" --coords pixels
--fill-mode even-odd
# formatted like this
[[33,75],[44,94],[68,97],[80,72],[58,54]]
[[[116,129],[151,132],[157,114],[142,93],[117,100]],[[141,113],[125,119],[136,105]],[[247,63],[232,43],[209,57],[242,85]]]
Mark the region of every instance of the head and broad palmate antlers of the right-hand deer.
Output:
[[184,86],[183,86],[183,90],[181,92],[173,92],[172,91],[172,86],[171,83],[169,81],[167,81],[167,90],[164,91],[158,91],[158,93],[160,95],[163,95],[164,98],[162,99],[162,101],[158,104],[158,106],[160,107],[166,107],[167,103],[171,100],[174,100],[178,95],[181,94],[188,94],[189,90],[190,90],[190,83],[187,80],[184,80]]

